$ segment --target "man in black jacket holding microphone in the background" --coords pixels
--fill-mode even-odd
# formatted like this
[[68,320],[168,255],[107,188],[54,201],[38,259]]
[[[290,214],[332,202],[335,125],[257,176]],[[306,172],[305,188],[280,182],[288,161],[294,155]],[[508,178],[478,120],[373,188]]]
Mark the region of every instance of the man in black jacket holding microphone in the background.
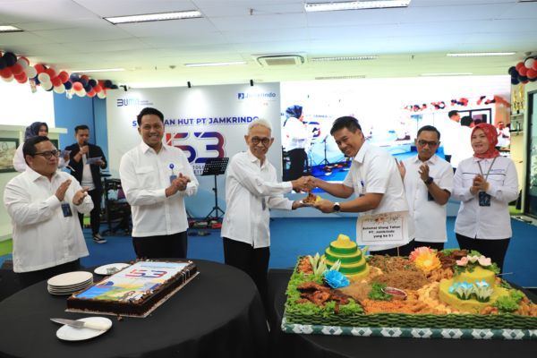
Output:
[[[76,143],[65,148],[71,150],[71,175],[81,183],[82,187],[88,188],[94,208],[90,213],[91,234],[94,243],[107,243],[100,230],[101,199],[103,196],[103,184],[101,183],[100,170],[107,167],[107,158],[103,149],[95,144],[90,144],[90,128],[86,124],[74,127]],[[84,216],[79,214],[81,227],[84,227]]]

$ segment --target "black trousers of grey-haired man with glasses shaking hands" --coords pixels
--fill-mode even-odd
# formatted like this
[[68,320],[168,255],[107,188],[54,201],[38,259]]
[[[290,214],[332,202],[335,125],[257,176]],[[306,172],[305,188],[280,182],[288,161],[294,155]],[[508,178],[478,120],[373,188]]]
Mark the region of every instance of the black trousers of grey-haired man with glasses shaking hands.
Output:
[[226,265],[243,270],[251,277],[260,292],[265,311],[268,313],[267,274],[270,248],[254,249],[250,243],[242,243],[226,237],[223,238],[223,243],[224,262]]

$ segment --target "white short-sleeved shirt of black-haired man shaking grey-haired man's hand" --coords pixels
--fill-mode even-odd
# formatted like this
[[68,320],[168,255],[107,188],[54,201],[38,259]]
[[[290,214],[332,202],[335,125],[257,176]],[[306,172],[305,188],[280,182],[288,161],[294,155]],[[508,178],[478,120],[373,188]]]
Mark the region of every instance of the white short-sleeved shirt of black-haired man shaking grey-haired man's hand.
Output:
[[[376,209],[364,211],[372,215],[392,211],[408,211],[403,180],[396,166],[396,159],[388,151],[372,146],[367,141],[353,159],[349,173],[343,182],[345,186],[354,189],[355,195],[368,192],[380,193],[382,200]],[[409,237],[413,235],[412,220],[408,219]],[[356,221],[356,230],[358,221]],[[356,237],[359,236],[356,231]],[[388,250],[397,247],[393,244],[371,245],[370,251]]]

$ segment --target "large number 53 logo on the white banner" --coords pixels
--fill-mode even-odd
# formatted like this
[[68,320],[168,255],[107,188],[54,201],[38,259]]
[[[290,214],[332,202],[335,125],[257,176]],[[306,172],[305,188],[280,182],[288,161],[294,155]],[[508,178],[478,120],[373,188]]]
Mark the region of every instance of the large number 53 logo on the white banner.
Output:
[[[166,132],[166,144],[183,149],[189,163],[205,163],[210,158],[224,158],[224,136],[219,132]],[[187,144],[188,143],[188,144]]]

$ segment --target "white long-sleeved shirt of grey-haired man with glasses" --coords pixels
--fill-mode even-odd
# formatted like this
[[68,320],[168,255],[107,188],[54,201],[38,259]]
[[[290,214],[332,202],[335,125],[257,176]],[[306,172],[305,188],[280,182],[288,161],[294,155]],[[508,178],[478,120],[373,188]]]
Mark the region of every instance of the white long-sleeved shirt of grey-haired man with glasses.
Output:
[[270,246],[268,209],[292,209],[291,182],[277,183],[276,169],[265,159],[263,165],[251,151],[231,158],[226,175],[226,214],[222,237],[250,243],[253,248]]

